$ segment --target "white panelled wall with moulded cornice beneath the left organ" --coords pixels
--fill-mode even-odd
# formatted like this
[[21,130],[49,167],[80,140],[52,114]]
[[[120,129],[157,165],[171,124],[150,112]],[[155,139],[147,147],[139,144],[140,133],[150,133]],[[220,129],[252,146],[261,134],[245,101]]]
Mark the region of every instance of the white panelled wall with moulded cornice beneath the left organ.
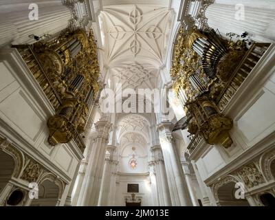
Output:
[[0,54],[0,73],[0,134],[69,183],[80,151],[72,143],[47,143],[54,110],[16,50]]

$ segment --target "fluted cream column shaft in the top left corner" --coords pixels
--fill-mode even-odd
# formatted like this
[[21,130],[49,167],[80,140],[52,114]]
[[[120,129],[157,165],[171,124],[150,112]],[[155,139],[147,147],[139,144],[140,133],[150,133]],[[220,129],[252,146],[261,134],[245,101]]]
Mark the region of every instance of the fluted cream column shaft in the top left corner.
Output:
[[[38,5],[38,20],[31,21],[32,7]],[[63,1],[25,0],[12,3],[0,1],[0,46],[5,44],[34,43],[30,35],[43,36],[56,34],[64,30],[72,19],[72,10],[63,5]]]

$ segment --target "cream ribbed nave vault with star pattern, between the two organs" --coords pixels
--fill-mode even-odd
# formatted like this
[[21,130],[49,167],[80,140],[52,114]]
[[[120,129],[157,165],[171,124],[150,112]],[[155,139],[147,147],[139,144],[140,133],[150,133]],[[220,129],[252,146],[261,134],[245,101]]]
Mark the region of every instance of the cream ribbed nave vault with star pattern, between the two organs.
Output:
[[115,90],[117,83],[122,83],[122,89],[157,87],[175,14],[168,3],[108,5],[103,1],[99,22],[109,87]]

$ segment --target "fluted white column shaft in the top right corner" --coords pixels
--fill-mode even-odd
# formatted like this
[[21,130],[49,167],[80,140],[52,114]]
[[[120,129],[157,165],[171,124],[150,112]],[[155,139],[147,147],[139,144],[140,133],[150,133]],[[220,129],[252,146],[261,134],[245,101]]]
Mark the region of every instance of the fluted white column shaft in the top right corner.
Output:
[[254,41],[275,41],[275,2],[267,0],[217,0],[206,8],[208,25],[229,32],[252,34]]

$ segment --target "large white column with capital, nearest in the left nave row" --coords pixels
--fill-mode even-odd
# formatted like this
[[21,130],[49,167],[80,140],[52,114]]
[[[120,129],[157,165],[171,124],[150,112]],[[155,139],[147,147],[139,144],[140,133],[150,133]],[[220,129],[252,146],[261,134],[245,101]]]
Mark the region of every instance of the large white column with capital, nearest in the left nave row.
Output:
[[111,123],[105,118],[95,123],[96,135],[91,147],[91,155],[85,173],[83,186],[78,198],[78,206],[97,206],[102,173],[104,168],[104,159],[107,143],[109,140],[109,130]]

